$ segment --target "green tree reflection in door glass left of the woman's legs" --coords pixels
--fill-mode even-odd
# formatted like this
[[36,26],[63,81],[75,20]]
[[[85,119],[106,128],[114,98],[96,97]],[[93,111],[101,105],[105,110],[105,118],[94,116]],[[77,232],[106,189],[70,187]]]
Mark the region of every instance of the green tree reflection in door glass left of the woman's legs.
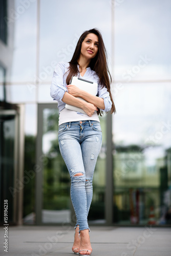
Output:
[[[44,133],[58,132],[58,112],[47,110]],[[70,176],[63,161],[58,139],[50,141],[46,153],[47,164],[44,166],[44,209],[61,210],[70,208]]]

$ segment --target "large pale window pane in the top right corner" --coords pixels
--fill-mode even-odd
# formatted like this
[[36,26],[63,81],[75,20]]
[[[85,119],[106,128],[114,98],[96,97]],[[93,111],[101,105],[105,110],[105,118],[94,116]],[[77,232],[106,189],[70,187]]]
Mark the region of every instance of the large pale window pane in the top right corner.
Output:
[[115,80],[170,79],[171,2],[116,2]]

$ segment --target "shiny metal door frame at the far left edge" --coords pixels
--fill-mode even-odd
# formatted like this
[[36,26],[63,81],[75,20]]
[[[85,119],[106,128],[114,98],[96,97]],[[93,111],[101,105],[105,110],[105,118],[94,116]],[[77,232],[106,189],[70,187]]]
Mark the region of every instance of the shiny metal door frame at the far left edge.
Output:
[[[8,105],[9,106],[9,105]],[[11,109],[0,110],[1,115],[14,116],[15,136],[14,136],[14,176],[12,187],[8,193],[13,197],[12,224],[23,224],[23,193],[24,193],[24,104],[11,104]],[[6,199],[6,198],[4,198]]]

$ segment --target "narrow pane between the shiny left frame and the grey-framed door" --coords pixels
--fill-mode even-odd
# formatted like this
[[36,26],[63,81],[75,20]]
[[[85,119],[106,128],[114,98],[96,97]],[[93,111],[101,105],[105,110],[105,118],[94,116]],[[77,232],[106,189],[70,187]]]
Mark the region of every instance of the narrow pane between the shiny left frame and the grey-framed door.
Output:
[[29,182],[24,187],[23,198],[23,222],[34,224],[35,222],[35,155],[36,155],[36,133],[37,133],[37,105],[25,105],[25,165],[24,175]]

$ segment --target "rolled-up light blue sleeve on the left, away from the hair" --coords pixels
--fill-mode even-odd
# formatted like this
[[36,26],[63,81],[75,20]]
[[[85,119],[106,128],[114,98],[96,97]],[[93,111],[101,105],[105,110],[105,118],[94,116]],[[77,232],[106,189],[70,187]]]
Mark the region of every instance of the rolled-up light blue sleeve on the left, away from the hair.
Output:
[[67,91],[65,84],[63,84],[63,75],[65,74],[65,62],[59,62],[55,67],[50,94],[54,100],[61,101],[63,95]]

